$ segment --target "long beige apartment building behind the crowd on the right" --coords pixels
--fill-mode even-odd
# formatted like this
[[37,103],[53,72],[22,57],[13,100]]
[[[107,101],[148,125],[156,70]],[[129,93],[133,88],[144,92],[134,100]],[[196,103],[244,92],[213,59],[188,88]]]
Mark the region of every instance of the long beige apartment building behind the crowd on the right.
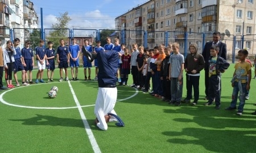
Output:
[[179,42],[181,53],[193,42],[201,53],[219,31],[229,56],[241,48],[255,54],[255,17],[255,0],[151,0],[115,18],[115,29],[128,46]]

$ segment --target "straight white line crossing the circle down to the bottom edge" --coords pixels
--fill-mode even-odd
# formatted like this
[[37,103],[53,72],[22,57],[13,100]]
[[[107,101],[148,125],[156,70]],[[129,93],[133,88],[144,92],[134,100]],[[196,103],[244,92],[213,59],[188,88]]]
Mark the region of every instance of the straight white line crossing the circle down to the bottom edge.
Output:
[[96,139],[95,139],[95,137],[92,133],[92,130],[90,129],[90,126],[89,126],[89,124],[86,120],[84,111],[82,111],[82,107],[79,103],[79,100],[76,97],[75,91],[73,90],[73,87],[72,87],[70,82],[68,82],[68,85],[69,85],[70,90],[72,92],[72,95],[73,95],[73,98],[74,98],[75,103],[77,105],[77,108],[79,109],[79,113],[80,113],[80,116],[82,118],[82,122],[84,123],[84,128],[85,128],[86,133],[88,134],[89,141],[90,141],[90,144],[92,145],[93,151],[94,152],[101,152],[100,147],[98,146],[98,143],[96,142]]

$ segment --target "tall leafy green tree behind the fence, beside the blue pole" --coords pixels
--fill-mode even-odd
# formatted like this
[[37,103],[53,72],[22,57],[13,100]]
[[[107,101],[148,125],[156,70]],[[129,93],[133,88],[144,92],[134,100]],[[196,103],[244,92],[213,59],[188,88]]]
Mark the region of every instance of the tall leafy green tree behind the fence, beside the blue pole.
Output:
[[60,45],[60,39],[64,39],[65,42],[69,41],[68,23],[71,21],[68,12],[60,13],[60,16],[56,17],[56,19],[57,23],[52,24],[52,30],[49,31],[49,36],[47,37],[48,41],[53,42],[53,48],[55,49]]

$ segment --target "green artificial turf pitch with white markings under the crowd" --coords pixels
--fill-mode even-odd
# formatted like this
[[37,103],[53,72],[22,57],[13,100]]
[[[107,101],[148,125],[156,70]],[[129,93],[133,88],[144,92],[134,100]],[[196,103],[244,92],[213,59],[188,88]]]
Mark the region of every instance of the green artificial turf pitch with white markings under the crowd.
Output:
[[[226,111],[233,67],[222,75],[220,110],[204,105],[203,72],[195,106],[169,105],[141,90],[117,86],[115,111],[125,127],[109,122],[107,131],[94,124],[97,81],[83,80],[83,69],[79,69],[80,80],[58,82],[56,69],[54,82],[0,92],[0,152],[255,152],[256,116],[251,113],[256,110],[256,79],[251,79],[250,99],[242,116]],[[49,99],[52,86],[59,91]],[[184,79],[183,98],[185,91]]]

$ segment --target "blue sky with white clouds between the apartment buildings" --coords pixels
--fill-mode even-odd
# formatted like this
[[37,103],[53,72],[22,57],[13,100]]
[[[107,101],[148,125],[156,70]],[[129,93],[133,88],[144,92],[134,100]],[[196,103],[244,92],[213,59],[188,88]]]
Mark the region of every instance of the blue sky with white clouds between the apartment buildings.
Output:
[[51,28],[51,25],[56,23],[56,17],[67,11],[71,18],[68,28],[112,29],[115,27],[115,18],[147,0],[31,0],[31,2],[34,3],[39,18],[38,28],[41,28],[40,8],[43,8],[43,28]]

